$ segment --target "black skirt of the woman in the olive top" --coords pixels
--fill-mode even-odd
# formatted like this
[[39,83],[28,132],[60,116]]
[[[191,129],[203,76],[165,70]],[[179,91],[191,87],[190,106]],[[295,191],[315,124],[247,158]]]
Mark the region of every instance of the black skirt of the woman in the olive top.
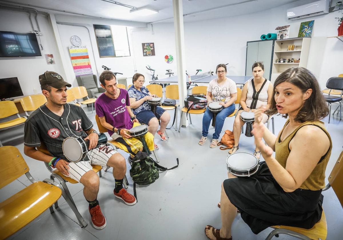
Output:
[[310,229],[323,211],[322,190],[285,192],[265,162],[251,177],[226,179],[224,190],[255,234],[274,225]]

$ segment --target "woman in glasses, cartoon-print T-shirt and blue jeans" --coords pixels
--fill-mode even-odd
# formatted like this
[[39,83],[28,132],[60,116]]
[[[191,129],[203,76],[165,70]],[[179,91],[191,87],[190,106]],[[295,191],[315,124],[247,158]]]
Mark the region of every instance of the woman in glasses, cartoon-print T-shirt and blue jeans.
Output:
[[[216,147],[219,139],[220,132],[222,131],[225,118],[232,114],[236,107],[234,102],[237,99],[236,83],[226,77],[226,65],[219,64],[216,68],[217,78],[213,79],[207,87],[206,99],[208,104],[212,101],[219,102],[223,106],[223,109],[217,113],[215,118],[215,131],[213,133],[213,139],[210,147]],[[202,137],[199,141],[199,145],[204,145],[207,134],[209,133],[209,127],[213,113],[206,108],[204,116],[202,118]]]

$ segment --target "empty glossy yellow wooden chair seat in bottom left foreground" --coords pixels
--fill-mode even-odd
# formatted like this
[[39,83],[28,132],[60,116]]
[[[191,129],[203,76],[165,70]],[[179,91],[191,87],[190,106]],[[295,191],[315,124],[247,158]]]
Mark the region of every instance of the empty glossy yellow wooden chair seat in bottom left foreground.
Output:
[[35,182],[0,203],[1,239],[7,238],[42,214],[62,195],[61,189]]

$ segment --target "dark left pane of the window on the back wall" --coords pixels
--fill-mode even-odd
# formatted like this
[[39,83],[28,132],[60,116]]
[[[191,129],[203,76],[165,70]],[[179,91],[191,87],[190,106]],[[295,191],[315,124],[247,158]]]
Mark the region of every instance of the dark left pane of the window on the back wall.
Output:
[[108,25],[93,25],[96,43],[98,45],[99,57],[115,57],[114,43],[112,39],[111,27]]

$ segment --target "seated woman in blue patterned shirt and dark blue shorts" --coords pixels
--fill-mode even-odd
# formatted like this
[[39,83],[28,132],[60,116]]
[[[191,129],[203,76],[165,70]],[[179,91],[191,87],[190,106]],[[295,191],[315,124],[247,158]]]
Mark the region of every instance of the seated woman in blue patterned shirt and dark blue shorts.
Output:
[[[169,113],[161,107],[156,107],[156,115],[151,111],[150,104],[146,100],[152,99],[152,97],[157,97],[157,95],[152,95],[149,90],[143,86],[145,80],[144,75],[136,73],[132,77],[133,85],[128,89],[128,94],[130,97],[130,106],[132,112],[136,115],[136,118],[140,123],[148,125],[148,131],[153,135],[157,132],[162,141],[166,141],[167,137],[164,135],[165,129],[169,123],[170,115]],[[157,117],[161,120],[161,126],[158,129],[159,123]],[[154,144],[155,150],[158,146]]]

